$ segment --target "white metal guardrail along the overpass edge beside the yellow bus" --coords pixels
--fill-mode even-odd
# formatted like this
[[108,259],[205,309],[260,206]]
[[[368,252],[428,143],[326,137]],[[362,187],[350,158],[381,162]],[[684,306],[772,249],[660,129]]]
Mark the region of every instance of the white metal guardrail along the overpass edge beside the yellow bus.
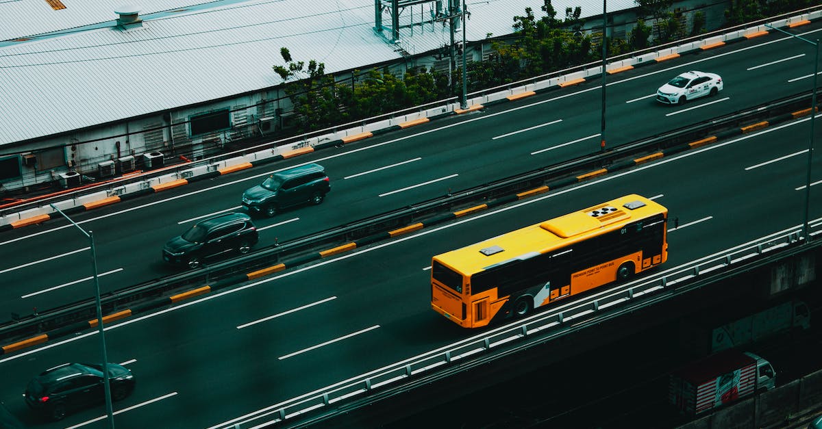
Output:
[[[413,389],[415,385],[428,384],[459,371],[467,371],[522,348],[582,330],[589,324],[602,323],[743,271],[822,247],[822,219],[816,219],[809,229],[810,242],[801,238],[801,231],[802,226],[798,225],[686,265],[637,279],[585,298],[583,302],[570,302],[416,358],[272,405],[258,412],[258,415],[234,419],[224,427],[279,427],[289,422],[306,426],[321,422],[335,413],[344,413],[346,409],[375,403]],[[608,311],[607,316],[599,316],[605,311]]]

